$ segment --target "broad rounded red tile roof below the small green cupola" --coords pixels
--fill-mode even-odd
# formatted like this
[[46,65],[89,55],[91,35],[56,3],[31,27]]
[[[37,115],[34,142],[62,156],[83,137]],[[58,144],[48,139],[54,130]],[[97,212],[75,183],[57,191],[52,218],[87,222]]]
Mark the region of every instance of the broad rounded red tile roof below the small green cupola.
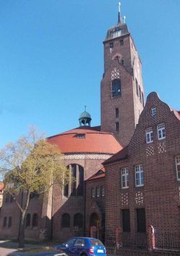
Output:
[[[77,138],[83,135],[84,138]],[[63,154],[101,153],[115,154],[122,146],[112,133],[97,131],[96,128],[79,127],[48,138],[51,144],[57,144]]]

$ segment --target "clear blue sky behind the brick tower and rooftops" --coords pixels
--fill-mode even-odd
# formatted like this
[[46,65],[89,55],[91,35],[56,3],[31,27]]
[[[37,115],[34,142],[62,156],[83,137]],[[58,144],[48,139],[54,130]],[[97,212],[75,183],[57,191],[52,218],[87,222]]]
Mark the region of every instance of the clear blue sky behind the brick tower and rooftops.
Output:
[[[36,125],[46,136],[100,124],[107,29],[117,0],[0,1],[0,148]],[[145,96],[180,109],[180,1],[121,0],[143,63]]]

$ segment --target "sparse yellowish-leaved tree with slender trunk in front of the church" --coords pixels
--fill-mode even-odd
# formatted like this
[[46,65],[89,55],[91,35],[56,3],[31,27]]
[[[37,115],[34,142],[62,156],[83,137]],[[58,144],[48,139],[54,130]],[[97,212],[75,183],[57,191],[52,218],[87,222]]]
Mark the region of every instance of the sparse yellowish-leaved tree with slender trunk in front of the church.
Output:
[[[54,184],[68,180],[63,155],[55,144],[49,144],[35,128],[16,143],[7,144],[0,151],[0,172],[4,176],[5,192],[13,196],[21,212],[19,247],[24,247],[24,226],[31,193],[44,194]],[[25,195],[25,203],[19,195]]]

